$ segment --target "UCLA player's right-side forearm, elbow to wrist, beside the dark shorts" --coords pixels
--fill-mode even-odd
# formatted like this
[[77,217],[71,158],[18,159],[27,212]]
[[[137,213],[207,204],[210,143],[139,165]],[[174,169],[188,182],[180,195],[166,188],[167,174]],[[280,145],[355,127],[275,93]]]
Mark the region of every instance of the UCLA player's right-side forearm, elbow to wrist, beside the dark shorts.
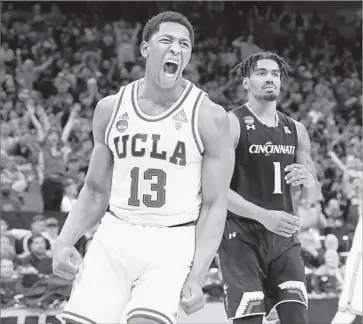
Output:
[[196,226],[195,252],[189,277],[203,284],[222,240],[227,210],[221,206],[202,206]]

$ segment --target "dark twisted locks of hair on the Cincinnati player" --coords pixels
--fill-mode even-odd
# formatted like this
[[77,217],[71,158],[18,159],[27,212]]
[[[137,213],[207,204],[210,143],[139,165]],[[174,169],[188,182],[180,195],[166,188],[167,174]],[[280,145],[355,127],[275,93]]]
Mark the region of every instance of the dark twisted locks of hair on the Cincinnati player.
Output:
[[279,55],[272,52],[259,52],[250,55],[243,62],[237,64],[232,70],[231,75],[235,77],[236,81],[243,80],[243,78],[249,77],[251,73],[256,69],[257,62],[260,60],[273,60],[280,68],[281,76],[288,78],[288,69],[290,65]]

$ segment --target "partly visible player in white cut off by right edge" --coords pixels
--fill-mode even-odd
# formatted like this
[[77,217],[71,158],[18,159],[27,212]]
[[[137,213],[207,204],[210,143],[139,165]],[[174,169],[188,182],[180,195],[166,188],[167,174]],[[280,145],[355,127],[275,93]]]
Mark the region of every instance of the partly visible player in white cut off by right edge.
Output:
[[332,324],[350,324],[357,316],[362,316],[362,181],[356,178],[353,184],[359,197],[359,220],[345,263],[343,289]]

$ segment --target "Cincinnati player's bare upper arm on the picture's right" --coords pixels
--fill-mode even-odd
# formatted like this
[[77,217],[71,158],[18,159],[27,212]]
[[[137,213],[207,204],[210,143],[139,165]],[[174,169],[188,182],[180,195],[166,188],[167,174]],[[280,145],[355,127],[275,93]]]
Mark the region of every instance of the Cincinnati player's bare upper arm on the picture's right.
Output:
[[298,146],[296,150],[296,162],[305,166],[305,168],[316,178],[316,169],[311,157],[311,143],[309,134],[305,126],[296,123],[298,133]]

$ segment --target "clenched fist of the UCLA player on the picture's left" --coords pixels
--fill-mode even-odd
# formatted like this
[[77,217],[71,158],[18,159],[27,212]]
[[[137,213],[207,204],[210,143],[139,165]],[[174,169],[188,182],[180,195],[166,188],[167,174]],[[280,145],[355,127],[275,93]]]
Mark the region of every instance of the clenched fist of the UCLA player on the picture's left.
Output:
[[53,273],[66,280],[73,280],[78,272],[80,256],[73,246],[54,246]]

